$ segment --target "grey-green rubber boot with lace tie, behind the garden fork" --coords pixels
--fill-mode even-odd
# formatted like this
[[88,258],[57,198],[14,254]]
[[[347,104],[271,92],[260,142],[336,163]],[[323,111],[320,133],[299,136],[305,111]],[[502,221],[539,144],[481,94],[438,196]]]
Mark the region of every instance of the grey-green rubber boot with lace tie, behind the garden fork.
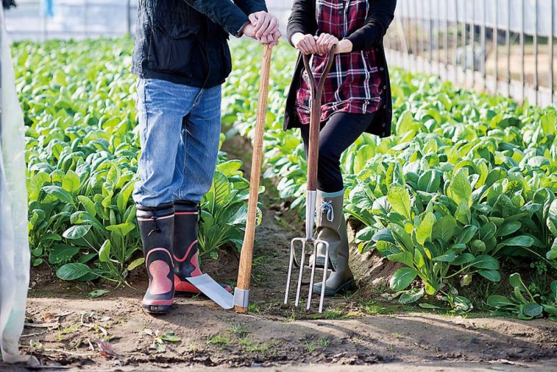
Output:
[[[354,284],[354,275],[348,267],[348,233],[343,210],[344,192],[317,192],[316,205],[317,239],[329,242],[329,268],[333,270],[325,283],[325,295],[336,295],[350,290]],[[315,248],[315,265],[324,267],[325,247],[318,244]],[[315,293],[321,293],[321,283],[313,286]]]

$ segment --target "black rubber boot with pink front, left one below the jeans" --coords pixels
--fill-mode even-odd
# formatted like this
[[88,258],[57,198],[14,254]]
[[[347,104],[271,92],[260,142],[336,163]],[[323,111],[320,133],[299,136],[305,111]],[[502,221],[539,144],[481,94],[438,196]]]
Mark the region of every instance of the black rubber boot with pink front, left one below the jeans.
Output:
[[148,313],[168,313],[174,299],[174,265],[172,235],[173,205],[156,208],[137,206],[137,223],[143,242],[149,288],[143,297],[143,309]]

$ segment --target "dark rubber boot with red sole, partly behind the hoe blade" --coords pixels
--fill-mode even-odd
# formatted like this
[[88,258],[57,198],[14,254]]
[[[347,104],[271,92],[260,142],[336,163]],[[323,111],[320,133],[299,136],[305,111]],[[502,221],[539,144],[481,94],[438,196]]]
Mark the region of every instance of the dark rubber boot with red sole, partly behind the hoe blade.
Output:
[[[199,205],[193,201],[174,202],[174,289],[177,293],[201,293],[186,278],[203,275],[199,268],[199,250],[197,241]],[[226,284],[221,286],[230,292]]]

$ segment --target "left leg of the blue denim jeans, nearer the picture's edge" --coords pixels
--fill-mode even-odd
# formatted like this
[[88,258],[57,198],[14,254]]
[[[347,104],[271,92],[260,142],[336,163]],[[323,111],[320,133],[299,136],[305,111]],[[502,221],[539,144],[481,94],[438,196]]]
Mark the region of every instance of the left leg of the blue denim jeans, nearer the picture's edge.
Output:
[[174,172],[180,158],[182,123],[200,91],[158,79],[139,80],[137,110],[142,152],[139,181],[133,194],[136,203],[156,207],[174,200],[175,189],[183,182]]

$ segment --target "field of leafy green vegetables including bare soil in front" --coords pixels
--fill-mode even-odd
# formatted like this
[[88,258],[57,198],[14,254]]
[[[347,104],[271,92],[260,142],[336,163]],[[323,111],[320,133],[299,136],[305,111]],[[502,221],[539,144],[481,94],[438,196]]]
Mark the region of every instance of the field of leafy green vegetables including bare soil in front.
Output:
[[[232,46],[235,66],[223,87],[224,150],[203,199],[199,242],[203,266],[235,284],[260,47],[252,42]],[[361,284],[377,282],[377,288],[326,302],[323,316],[281,304],[288,243],[304,228],[300,216],[307,167],[299,133],[282,130],[285,90],[296,59],[285,43],[273,52],[267,110],[265,187],[250,305],[257,318],[219,313],[196,298],[173,315],[174,323],[137,316],[146,274],[131,198],[140,152],[131,51],[130,39],[13,45],[26,125],[31,277],[36,282],[30,302],[44,310],[30,311],[30,316],[46,320],[40,318],[45,311],[63,306],[63,300],[49,302],[49,293],[60,293],[61,287],[72,288],[70,300],[77,309],[67,320],[56,320],[57,336],[47,333],[43,341],[29,344],[31,352],[61,362],[61,354],[47,357],[39,345],[52,343],[83,354],[85,340],[100,337],[120,343],[132,358],[123,360],[131,365],[155,363],[163,349],[177,359],[185,356],[180,363],[205,366],[295,364],[297,357],[342,364],[432,362],[437,360],[433,348],[442,360],[470,363],[510,359],[520,366],[538,356],[556,357],[551,350],[557,346],[557,328],[551,321],[557,321],[557,110],[473,93],[403,70],[391,71],[393,136],[364,134],[341,160],[345,213],[354,235],[351,263],[365,272],[371,260],[379,260],[392,272],[356,277]],[[87,296],[100,298],[83,302]],[[93,315],[77,320],[80,312],[106,313],[111,320]],[[180,336],[184,318],[207,313],[218,324],[201,320],[206,328],[202,339]],[[400,314],[416,325],[389,323]],[[467,320],[480,316],[487,318]],[[439,327],[441,320],[451,325]],[[64,327],[71,325],[63,325],[70,321],[81,325],[70,332]],[[346,327],[346,332],[319,331],[313,328],[317,321]],[[127,322],[136,327],[131,340],[124,340]],[[377,334],[369,331],[374,322]],[[367,331],[356,331],[358,323]],[[91,324],[96,329],[87,328]],[[516,339],[509,331],[515,325],[530,332],[530,338]],[[256,337],[258,327],[276,331],[276,337],[272,332]],[[433,339],[430,327],[439,327],[443,337],[463,339],[455,341],[454,349],[446,348],[444,341]],[[489,327],[499,338],[487,333]],[[350,332],[361,343],[352,336],[336,343]],[[469,341],[474,337],[477,345]],[[394,345],[393,350],[374,339]],[[524,352],[500,352],[509,343]],[[318,356],[312,357],[316,348]],[[462,354],[455,356],[457,349]],[[166,362],[178,363],[171,358]]]

